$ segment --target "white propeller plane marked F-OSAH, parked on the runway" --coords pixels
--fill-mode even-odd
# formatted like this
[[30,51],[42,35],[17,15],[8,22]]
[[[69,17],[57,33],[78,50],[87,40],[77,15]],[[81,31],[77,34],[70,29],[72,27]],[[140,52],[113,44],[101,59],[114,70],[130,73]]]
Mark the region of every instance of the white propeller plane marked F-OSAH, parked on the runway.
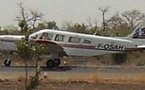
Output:
[[[1,35],[0,50],[17,51],[15,41],[24,36]],[[127,37],[103,37],[44,29],[29,36],[29,40],[50,46],[47,67],[57,67],[61,56],[96,56],[102,54],[125,53],[145,49],[145,20]],[[10,66],[10,58],[4,61]]]

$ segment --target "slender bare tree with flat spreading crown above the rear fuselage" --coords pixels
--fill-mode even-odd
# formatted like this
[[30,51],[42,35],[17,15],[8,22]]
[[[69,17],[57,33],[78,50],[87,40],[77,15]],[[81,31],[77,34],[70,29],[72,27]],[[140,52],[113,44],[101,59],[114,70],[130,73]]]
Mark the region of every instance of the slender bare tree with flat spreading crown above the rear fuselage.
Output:
[[110,7],[98,8],[98,10],[101,11],[101,13],[102,13],[103,31],[106,30],[107,23],[106,23],[106,19],[105,19],[105,14],[108,12],[109,8]]

